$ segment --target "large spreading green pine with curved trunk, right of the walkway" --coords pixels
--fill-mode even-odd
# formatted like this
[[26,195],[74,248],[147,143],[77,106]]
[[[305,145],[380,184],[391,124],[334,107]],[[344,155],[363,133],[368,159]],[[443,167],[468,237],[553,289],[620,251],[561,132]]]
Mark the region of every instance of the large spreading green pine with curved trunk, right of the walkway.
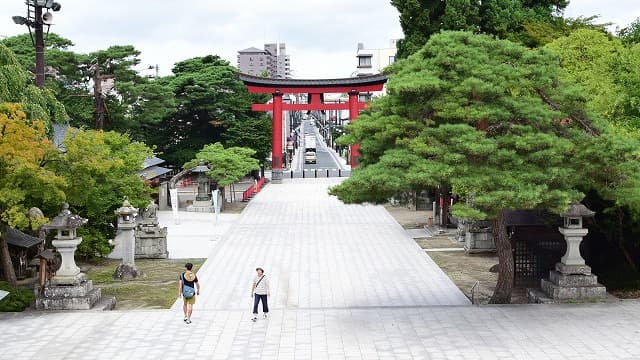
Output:
[[509,302],[507,210],[560,213],[582,199],[583,187],[617,189],[631,202],[640,196],[637,151],[629,151],[637,144],[589,120],[586,99],[558,65],[550,51],[486,35],[432,36],[392,66],[388,96],[349,126],[346,141],[361,144],[361,167],[331,193],[380,203],[403,191],[450,188],[461,200],[455,216],[494,221],[500,271],[491,301]]

